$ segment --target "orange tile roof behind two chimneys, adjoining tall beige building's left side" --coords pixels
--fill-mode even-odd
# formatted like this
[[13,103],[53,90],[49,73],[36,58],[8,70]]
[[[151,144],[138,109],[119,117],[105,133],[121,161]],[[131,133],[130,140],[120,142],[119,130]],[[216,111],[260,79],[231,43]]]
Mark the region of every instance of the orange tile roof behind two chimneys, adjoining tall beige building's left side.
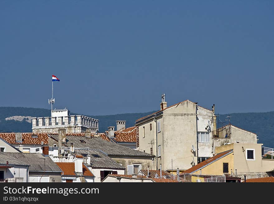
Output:
[[136,127],[134,126],[122,131],[115,131],[113,139],[116,142],[136,143],[136,138]]

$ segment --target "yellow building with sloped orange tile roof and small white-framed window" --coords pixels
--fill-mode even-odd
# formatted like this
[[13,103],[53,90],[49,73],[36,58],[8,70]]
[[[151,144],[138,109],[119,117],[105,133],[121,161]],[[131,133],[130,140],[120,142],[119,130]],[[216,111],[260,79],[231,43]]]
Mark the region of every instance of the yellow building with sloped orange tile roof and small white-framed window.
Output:
[[216,147],[216,155],[191,167],[184,173],[230,175],[244,179],[260,178],[273,170],[274,160],[262,159],[262,144],[232,143]]

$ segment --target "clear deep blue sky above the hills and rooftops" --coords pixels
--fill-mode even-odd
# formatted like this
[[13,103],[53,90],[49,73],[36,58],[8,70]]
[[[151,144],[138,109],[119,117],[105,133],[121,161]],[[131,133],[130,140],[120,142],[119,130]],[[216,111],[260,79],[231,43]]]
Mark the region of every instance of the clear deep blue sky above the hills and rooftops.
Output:
[[1,1],[0,106],[274,111],[274,1]]

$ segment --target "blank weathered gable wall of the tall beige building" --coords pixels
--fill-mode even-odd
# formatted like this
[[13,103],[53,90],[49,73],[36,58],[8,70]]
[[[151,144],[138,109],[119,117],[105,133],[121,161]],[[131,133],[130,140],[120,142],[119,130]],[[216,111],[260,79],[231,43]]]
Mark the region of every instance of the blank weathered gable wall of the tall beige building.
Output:
[[187,170],[192,161],[197,164],[197,155],[191,153],[192,145],[197,149],[196,123],[193,102],[186,101],[163,111],[163,170]]

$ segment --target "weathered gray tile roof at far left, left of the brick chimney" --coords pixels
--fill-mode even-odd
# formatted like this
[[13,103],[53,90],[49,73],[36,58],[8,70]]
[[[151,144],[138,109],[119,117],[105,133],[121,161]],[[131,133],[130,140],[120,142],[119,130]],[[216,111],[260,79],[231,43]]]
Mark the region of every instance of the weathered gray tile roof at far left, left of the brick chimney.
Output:
[[[49,156],[43,156],[40,153],[19,153],[19,152],[4,152],[8,156],[15,158],[21,163],[31,165],[29,171],[51,171],[62,172],[57,164],[50,159]],[[45,159],[45,160],[44,160]],[[10,163],[9,163],[10,164]]]

